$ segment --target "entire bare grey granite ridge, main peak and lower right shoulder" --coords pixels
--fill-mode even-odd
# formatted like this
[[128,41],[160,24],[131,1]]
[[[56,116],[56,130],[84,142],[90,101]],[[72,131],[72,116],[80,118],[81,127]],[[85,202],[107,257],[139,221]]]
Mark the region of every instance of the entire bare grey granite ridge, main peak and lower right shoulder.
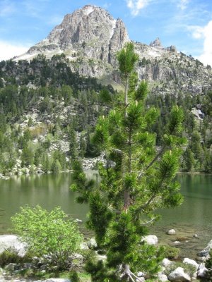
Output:
[[[121,19],[115,20],[104,9],[87,5],[66,15],[46,39],[16,60],[30,60],[37,54],[48,58],[64,53],[72,71],[100,78],[103,83],[119,84],[116,54],[128,41]],[[134,45],[140,57],[139,78],[148,80],[156,92],[196,94],[210,89],[211,68],[204,67],[192,56],[177,52],[175,46],[163,47],[159,38],[149,46],[139,42]]]

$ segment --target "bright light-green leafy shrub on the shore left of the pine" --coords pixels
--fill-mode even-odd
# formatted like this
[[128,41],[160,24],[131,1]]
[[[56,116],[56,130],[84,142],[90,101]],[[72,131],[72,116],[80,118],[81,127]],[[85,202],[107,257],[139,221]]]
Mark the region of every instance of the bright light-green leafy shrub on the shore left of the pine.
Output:
[[51,265],[58,269],[71,266],[71,256],[82,242],[82,235],[78,231],[75,221],[60,207],[51,212],[37,206],[20,207],[20,212],[12,216],[13,232],[28,246],[30,254],[50,259]]

